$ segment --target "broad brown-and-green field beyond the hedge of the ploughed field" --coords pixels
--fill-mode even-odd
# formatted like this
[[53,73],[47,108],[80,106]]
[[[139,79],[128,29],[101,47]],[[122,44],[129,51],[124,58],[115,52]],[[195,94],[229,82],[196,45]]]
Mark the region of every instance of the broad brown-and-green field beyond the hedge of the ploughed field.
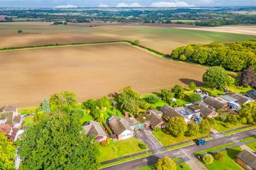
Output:
[[[185,27],[187,28],[187,25]],[[17,30],[19,29],[28,33],[18,34]],[[196,27],[195,29],[200,28]],[[186,46],[190,43],[204,44],[213,41],[230,42],[256,39],[251,35],[164,28],[156,27],[155,24],[154,26],[149,26],[149,24],[105,25],[90,28],[88,23],[52,25],[50,22],[0,23],[0,36],[0,48],[139,39],[141,45],[166,54],[170,54],[176,47]]]

